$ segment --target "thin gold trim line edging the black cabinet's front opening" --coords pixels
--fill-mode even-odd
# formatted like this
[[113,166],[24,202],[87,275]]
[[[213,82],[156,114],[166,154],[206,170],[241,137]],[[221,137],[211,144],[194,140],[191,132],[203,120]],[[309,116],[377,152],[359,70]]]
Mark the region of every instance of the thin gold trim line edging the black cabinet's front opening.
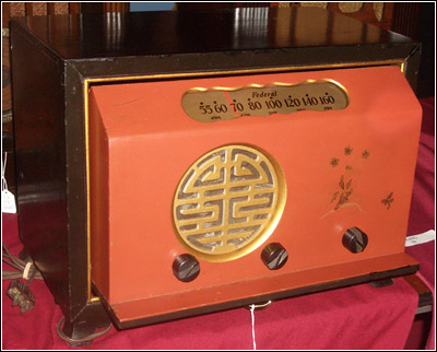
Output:
[[406,59],[386,60],[386,61],[365,61],[365,62],[347,62],[347,63],[330,63],[330,64],[312,64],[298,67],[277,67],[277,68],[261,68],[248,70],[229,70],[229,71],[202,71],[202,72],[185,72],[185,73],[158,73],[144,75],[127,75],[113,78],[87,78],[83,80],[83,102],[84,102],[84,130],[85,130],[85,175],[86,175],[86,242],[87,242],[87,295],[88,303],[98,301],[92,297],[91,285],[91,233],[90,233],[90,136],[88,136],[88,90],[92,83],[102,82],[122,82],[122,81],[150,81],[180,78],[198,78],[198,77],[220,77],[229,74],[248,74],[248,73],[273,73],[273,72],[293,72],[306,70],[323,70],[323,69],[341,69],[341,68],[359,68],[375,66],[399,66],[402,73],[405,73]]

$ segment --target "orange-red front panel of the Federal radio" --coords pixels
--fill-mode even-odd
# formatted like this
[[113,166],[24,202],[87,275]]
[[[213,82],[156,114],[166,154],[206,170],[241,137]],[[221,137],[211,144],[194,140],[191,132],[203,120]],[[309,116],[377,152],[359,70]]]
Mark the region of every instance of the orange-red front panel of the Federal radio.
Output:
[[[330,104],[308,80],[339,83],[331,101],[346,106],[309,109]],[[277,91],[296,85],[305,110],[268,105],[285,106]],[[185,112],[187,94],[198,115]],[[270,116],[257,116],[262,106]],[[394,67],[93,86],[95,289],[128,327],[415,267],[404,237],[421,116]],[[347,247],[354,231],[364,250]],[[273,269],[262,259],[272,244],[283,256]],[[177,277],[178,260],[194,278]]]

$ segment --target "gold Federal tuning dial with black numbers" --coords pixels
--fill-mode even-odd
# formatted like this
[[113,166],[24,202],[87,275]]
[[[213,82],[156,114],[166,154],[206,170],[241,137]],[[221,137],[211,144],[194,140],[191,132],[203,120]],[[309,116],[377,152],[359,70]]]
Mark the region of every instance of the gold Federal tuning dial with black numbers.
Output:
[[243,87],[196,87],[182,96],[182,108],[201,122],[232,120],[244,116],[270,116],[299,110],[344,109],[349,94],[331,80],[297,84],[250,84]]

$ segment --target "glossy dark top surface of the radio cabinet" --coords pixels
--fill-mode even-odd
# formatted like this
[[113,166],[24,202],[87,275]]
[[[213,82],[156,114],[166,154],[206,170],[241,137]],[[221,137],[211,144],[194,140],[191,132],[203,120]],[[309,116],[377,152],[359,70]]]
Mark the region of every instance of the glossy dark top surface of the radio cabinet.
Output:
[[[64,59],[353,46],[385,51],[410,38],[317,8],[158,11],[12,20]],[[386,55],[387,55],[386,54]]]

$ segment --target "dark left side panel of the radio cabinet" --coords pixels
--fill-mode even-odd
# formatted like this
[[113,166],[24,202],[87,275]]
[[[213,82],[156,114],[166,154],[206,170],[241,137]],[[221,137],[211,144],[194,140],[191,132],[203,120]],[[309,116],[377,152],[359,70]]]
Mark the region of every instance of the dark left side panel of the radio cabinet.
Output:
[[20,238],[70,316],[63,61],[11,25]]

